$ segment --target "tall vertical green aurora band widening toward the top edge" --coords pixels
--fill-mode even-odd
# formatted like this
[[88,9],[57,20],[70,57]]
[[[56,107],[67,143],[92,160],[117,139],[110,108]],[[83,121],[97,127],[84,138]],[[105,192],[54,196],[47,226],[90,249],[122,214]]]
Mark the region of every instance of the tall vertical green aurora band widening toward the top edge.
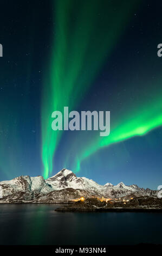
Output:
[[68,106],[69,111],[77,107],[124,33],[137,2],[55,1],[54,47],[42,93],[45,179],[53,171],[53,156],[62,136],[62,131],[51,129],[51,113],[56,110],[63,112],[64,106]]

